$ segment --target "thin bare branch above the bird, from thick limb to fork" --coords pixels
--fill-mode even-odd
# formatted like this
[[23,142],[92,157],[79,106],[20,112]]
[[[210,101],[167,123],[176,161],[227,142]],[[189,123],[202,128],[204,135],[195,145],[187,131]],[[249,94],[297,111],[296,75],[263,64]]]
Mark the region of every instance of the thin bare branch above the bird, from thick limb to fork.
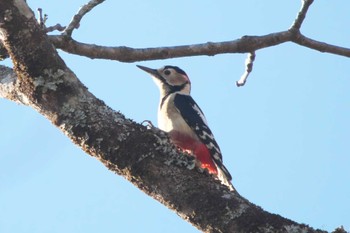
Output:
[[244,36],[241,39],[225,42],[207,42],[204,44],[182,45],[158,48],[134,49],[130,47],[106,47],[84,44],[63,36],[50,36],[56,48],[68,53],[89,58],[110,59],[121,62],[136,62],[188,56],[214,56],[225,53],[247,53],[290,41],[290,31],[277,32],[264,36]]

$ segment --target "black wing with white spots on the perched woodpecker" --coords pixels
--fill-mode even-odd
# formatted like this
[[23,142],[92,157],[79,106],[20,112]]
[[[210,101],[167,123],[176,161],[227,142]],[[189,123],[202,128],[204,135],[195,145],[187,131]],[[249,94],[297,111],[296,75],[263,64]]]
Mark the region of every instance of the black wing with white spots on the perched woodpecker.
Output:
[[225,173],[228,180],[231,180],[230,173],[222,163],[220,147],[215,141],[200,107],[190,95],[175,95],[174,104],[188,126],[195,132],[201,142],[207,146],[217,167]]

